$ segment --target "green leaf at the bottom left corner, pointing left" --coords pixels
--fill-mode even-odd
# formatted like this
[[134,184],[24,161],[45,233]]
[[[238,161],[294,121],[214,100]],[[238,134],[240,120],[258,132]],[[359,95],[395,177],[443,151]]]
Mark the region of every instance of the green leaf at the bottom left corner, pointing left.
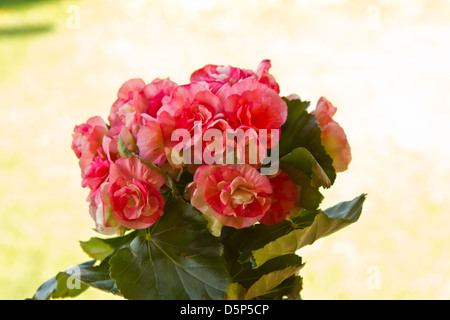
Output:
[[43,283],[33,296],[35,300],[76,297],[88,287],[118,294],[115,283],[109,277],[108,261],[95,266],[95,260],[87,261]]

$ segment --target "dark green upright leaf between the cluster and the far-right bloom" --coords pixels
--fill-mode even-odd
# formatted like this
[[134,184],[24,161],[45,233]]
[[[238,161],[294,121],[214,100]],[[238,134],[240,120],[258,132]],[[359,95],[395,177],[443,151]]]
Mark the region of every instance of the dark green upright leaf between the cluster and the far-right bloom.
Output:
[[322,130],[316,121],[316,117],[306,110],[310,102],[301,101],[300,99],[283,99],[288,106],[288,117],[281,127],[280,157],[291,153],[297,147],[308,149],[327,174],[330,185],[332,185],[336,180],[333,159],[326,153],[322,145]]

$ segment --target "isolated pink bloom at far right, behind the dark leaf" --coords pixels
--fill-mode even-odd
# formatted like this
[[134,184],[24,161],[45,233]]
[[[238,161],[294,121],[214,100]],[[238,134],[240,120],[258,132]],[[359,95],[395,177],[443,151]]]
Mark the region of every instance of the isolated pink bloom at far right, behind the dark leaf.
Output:
[[336,172],[347,170],[352,160],[350,145],[344,129],[333,120],[337,109],[326,98],[321,97],[313,114],[322,129],[322,144],[333,159]]

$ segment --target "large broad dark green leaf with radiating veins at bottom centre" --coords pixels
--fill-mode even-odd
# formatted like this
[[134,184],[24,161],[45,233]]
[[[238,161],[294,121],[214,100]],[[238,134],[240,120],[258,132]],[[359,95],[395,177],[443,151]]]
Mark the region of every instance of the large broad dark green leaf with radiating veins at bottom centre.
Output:
[[129,248],[112,256],[110,273],[127,299],[221,299],[231,282],[222,251],[201,214],[174,199]]

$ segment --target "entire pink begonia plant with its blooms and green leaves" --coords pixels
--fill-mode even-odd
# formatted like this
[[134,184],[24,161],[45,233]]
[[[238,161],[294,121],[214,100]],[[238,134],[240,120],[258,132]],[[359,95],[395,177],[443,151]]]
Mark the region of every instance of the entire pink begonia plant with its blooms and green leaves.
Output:
[[321,188],[351,160],[336,108],[280,96],[269,60],[206,65],[189,84],[126,81],[108,122],[72,149],[100,234],[91,260],[34,299],[94,287],[125,299],[300,299],[303,246],[358,220],[365,194],[323,210]]

